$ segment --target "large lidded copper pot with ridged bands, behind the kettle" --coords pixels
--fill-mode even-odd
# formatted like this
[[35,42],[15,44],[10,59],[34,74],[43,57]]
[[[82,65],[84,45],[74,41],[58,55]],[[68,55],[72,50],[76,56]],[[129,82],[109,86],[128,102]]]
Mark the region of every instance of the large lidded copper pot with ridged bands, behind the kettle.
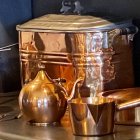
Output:
[[84,78],[81,96],[134,86],[132,40],[137,28],[131,20],[50,14],[17,30],[23,84],[34,79],[41,59],[52,79],[66,79],[69,94],[78,77]]

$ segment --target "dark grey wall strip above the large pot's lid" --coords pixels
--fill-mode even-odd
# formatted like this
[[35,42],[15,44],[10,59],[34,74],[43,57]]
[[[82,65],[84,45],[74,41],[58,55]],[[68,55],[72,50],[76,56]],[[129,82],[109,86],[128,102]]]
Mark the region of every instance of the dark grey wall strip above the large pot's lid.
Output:
[[128,17],[140,17],[139,0],[33,0],[34,17],[46,13],[59,13],[62,7],[62,1],[79,1],[88,13],[98,12],[104,15],[117,15]]

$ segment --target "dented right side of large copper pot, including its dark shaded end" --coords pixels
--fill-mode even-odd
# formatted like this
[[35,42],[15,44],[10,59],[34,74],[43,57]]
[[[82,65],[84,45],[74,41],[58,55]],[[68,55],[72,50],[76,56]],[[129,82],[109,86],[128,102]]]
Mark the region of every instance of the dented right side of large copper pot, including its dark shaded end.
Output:
[[114,30],[68,36],[76,76],[84,78],[81,96],[133,86],[132,46],[127,35],[118,35]]

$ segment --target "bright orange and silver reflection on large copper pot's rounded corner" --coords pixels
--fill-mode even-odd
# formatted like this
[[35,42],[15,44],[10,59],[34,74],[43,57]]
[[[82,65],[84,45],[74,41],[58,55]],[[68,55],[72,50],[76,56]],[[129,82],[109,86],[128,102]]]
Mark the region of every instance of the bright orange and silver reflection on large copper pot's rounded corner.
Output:
[[115,54],[108,45],[106,32],[69,34],[72,44],[72,61],[76,76],[84,78],[83,87],[89,88],[90,96],[104,90],[104,84],[115,79]]

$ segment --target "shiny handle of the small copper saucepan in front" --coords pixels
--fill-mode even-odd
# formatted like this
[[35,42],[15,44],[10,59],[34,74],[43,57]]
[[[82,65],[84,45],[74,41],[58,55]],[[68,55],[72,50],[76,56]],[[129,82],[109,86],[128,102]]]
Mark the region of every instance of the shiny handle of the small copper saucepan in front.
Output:
[[116,110],[125,110],[140,106],[140,98],[116,105]]

